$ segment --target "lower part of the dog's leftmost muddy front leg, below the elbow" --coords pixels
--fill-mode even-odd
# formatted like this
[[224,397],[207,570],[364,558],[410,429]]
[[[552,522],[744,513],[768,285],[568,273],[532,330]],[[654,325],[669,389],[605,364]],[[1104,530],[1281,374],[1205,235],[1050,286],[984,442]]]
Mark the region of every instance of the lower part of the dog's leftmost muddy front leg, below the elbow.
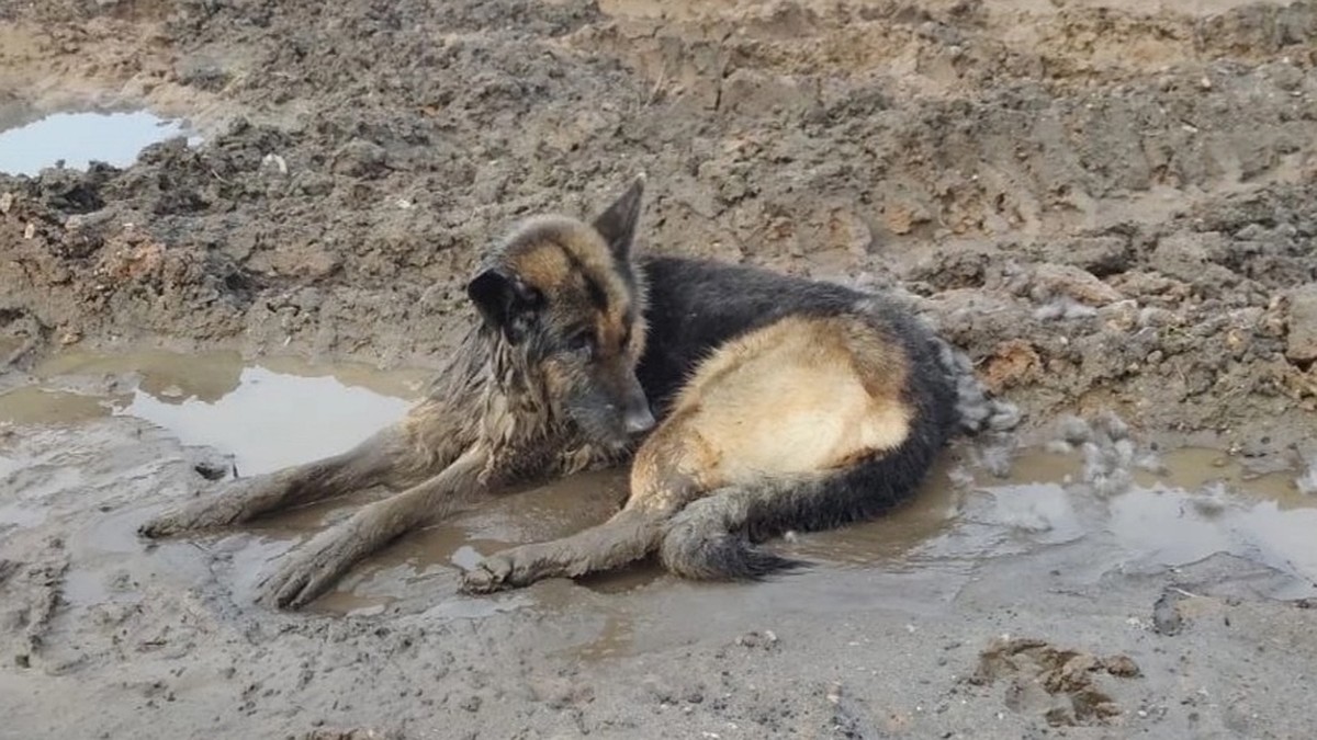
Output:
[[386,483],[390,470],[403,456],[395,435],[389,429],[342,454],[232,481],[215,495],[198,498],[182,508],[148,520],[138,528],[138,533],[144,537],[166,537],[238,524],[262,514]]

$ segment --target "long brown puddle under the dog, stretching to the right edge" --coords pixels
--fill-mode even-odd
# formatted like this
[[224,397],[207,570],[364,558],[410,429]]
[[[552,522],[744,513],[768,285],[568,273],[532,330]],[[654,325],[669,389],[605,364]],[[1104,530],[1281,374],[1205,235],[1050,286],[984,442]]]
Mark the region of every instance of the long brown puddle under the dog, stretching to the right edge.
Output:
[[[989,564],[1023,574],[1030,566],[1013,562],[1048,561],[1048,550],[1067,550],[1067,561],[1084,564],[1068,581],[1098,583],[1113,573],[1158,573],[1229,553],[1289,577],[1272,598],[1317,594],[1310,537],[1317,499],[1300,494],[1292,474],[1247,475],[1204,449],[1168,453],[1163,463],[1164,473],[1137,474],[1126,491],[1098,496],[1079,482],[1077,456],[1027,450],[1006,479],[982,473],[964,485],[956,469],[965,462],[952,452],[921,496],[893,516],[777,542],[814,564],[801,574],[753,586],[691,583],[641,564],[576,585],[545,582],[482,599],[456,593],[458,566],[481,554],[607,517],[624,498],[626,481],[597,474],[510,496],[419,533],[358,568],[313,611],[477,616],[486,608],[531,608],[565,633],[549,641],[561,654],[597,660],[744,629],[765,615],[847,619],[896,611],[914,624],[948,611]],[[299,524],[307,525],[306,517],[320,515],[302,516]],[[1027,600],[1036,583],[1022,578],[1017,587]]]

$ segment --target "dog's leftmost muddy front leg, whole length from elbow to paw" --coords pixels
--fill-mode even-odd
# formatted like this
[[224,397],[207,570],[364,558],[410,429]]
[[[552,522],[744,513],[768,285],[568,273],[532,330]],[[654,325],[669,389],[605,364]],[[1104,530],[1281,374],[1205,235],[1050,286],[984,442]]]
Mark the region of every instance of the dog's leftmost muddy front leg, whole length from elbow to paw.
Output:
[[[452,449],[454,437],[436,432],[443,425],[441,408],[423,403],[407,420],[373,435],[353,449],[304,465],[295,465],[240,478],[220,492],[198,498],[182,508],[167,511],[138,528],[144,537],[166,537],[195,529],[227,527],[274,511],[332,499],[371,486],[404,489],[443,470],[461,449]],[[435,440],[446,444],[437,444]],[[468,441],[468,444],[470,444]]]

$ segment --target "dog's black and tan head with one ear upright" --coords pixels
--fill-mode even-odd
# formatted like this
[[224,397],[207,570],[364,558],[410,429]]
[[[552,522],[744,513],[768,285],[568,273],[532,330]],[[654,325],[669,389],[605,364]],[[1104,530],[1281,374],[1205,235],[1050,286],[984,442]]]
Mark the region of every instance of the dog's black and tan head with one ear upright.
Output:
[[655,417],[636,365],[645,346],[644,280],[631,255],[644,176],[586,224],[520,224],[468,284],[486,327],[522,353],[554,411],[616,446]]

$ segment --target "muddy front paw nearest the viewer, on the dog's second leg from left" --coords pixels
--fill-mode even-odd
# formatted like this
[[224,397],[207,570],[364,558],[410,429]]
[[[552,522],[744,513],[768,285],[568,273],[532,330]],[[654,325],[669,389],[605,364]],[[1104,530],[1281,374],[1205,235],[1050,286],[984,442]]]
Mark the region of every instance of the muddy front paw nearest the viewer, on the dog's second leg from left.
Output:
[[300,608],[328,591],[363,554],[363,542],[348,521],[321,532],[286,556],[258,586],[257,600],[275,608]]

